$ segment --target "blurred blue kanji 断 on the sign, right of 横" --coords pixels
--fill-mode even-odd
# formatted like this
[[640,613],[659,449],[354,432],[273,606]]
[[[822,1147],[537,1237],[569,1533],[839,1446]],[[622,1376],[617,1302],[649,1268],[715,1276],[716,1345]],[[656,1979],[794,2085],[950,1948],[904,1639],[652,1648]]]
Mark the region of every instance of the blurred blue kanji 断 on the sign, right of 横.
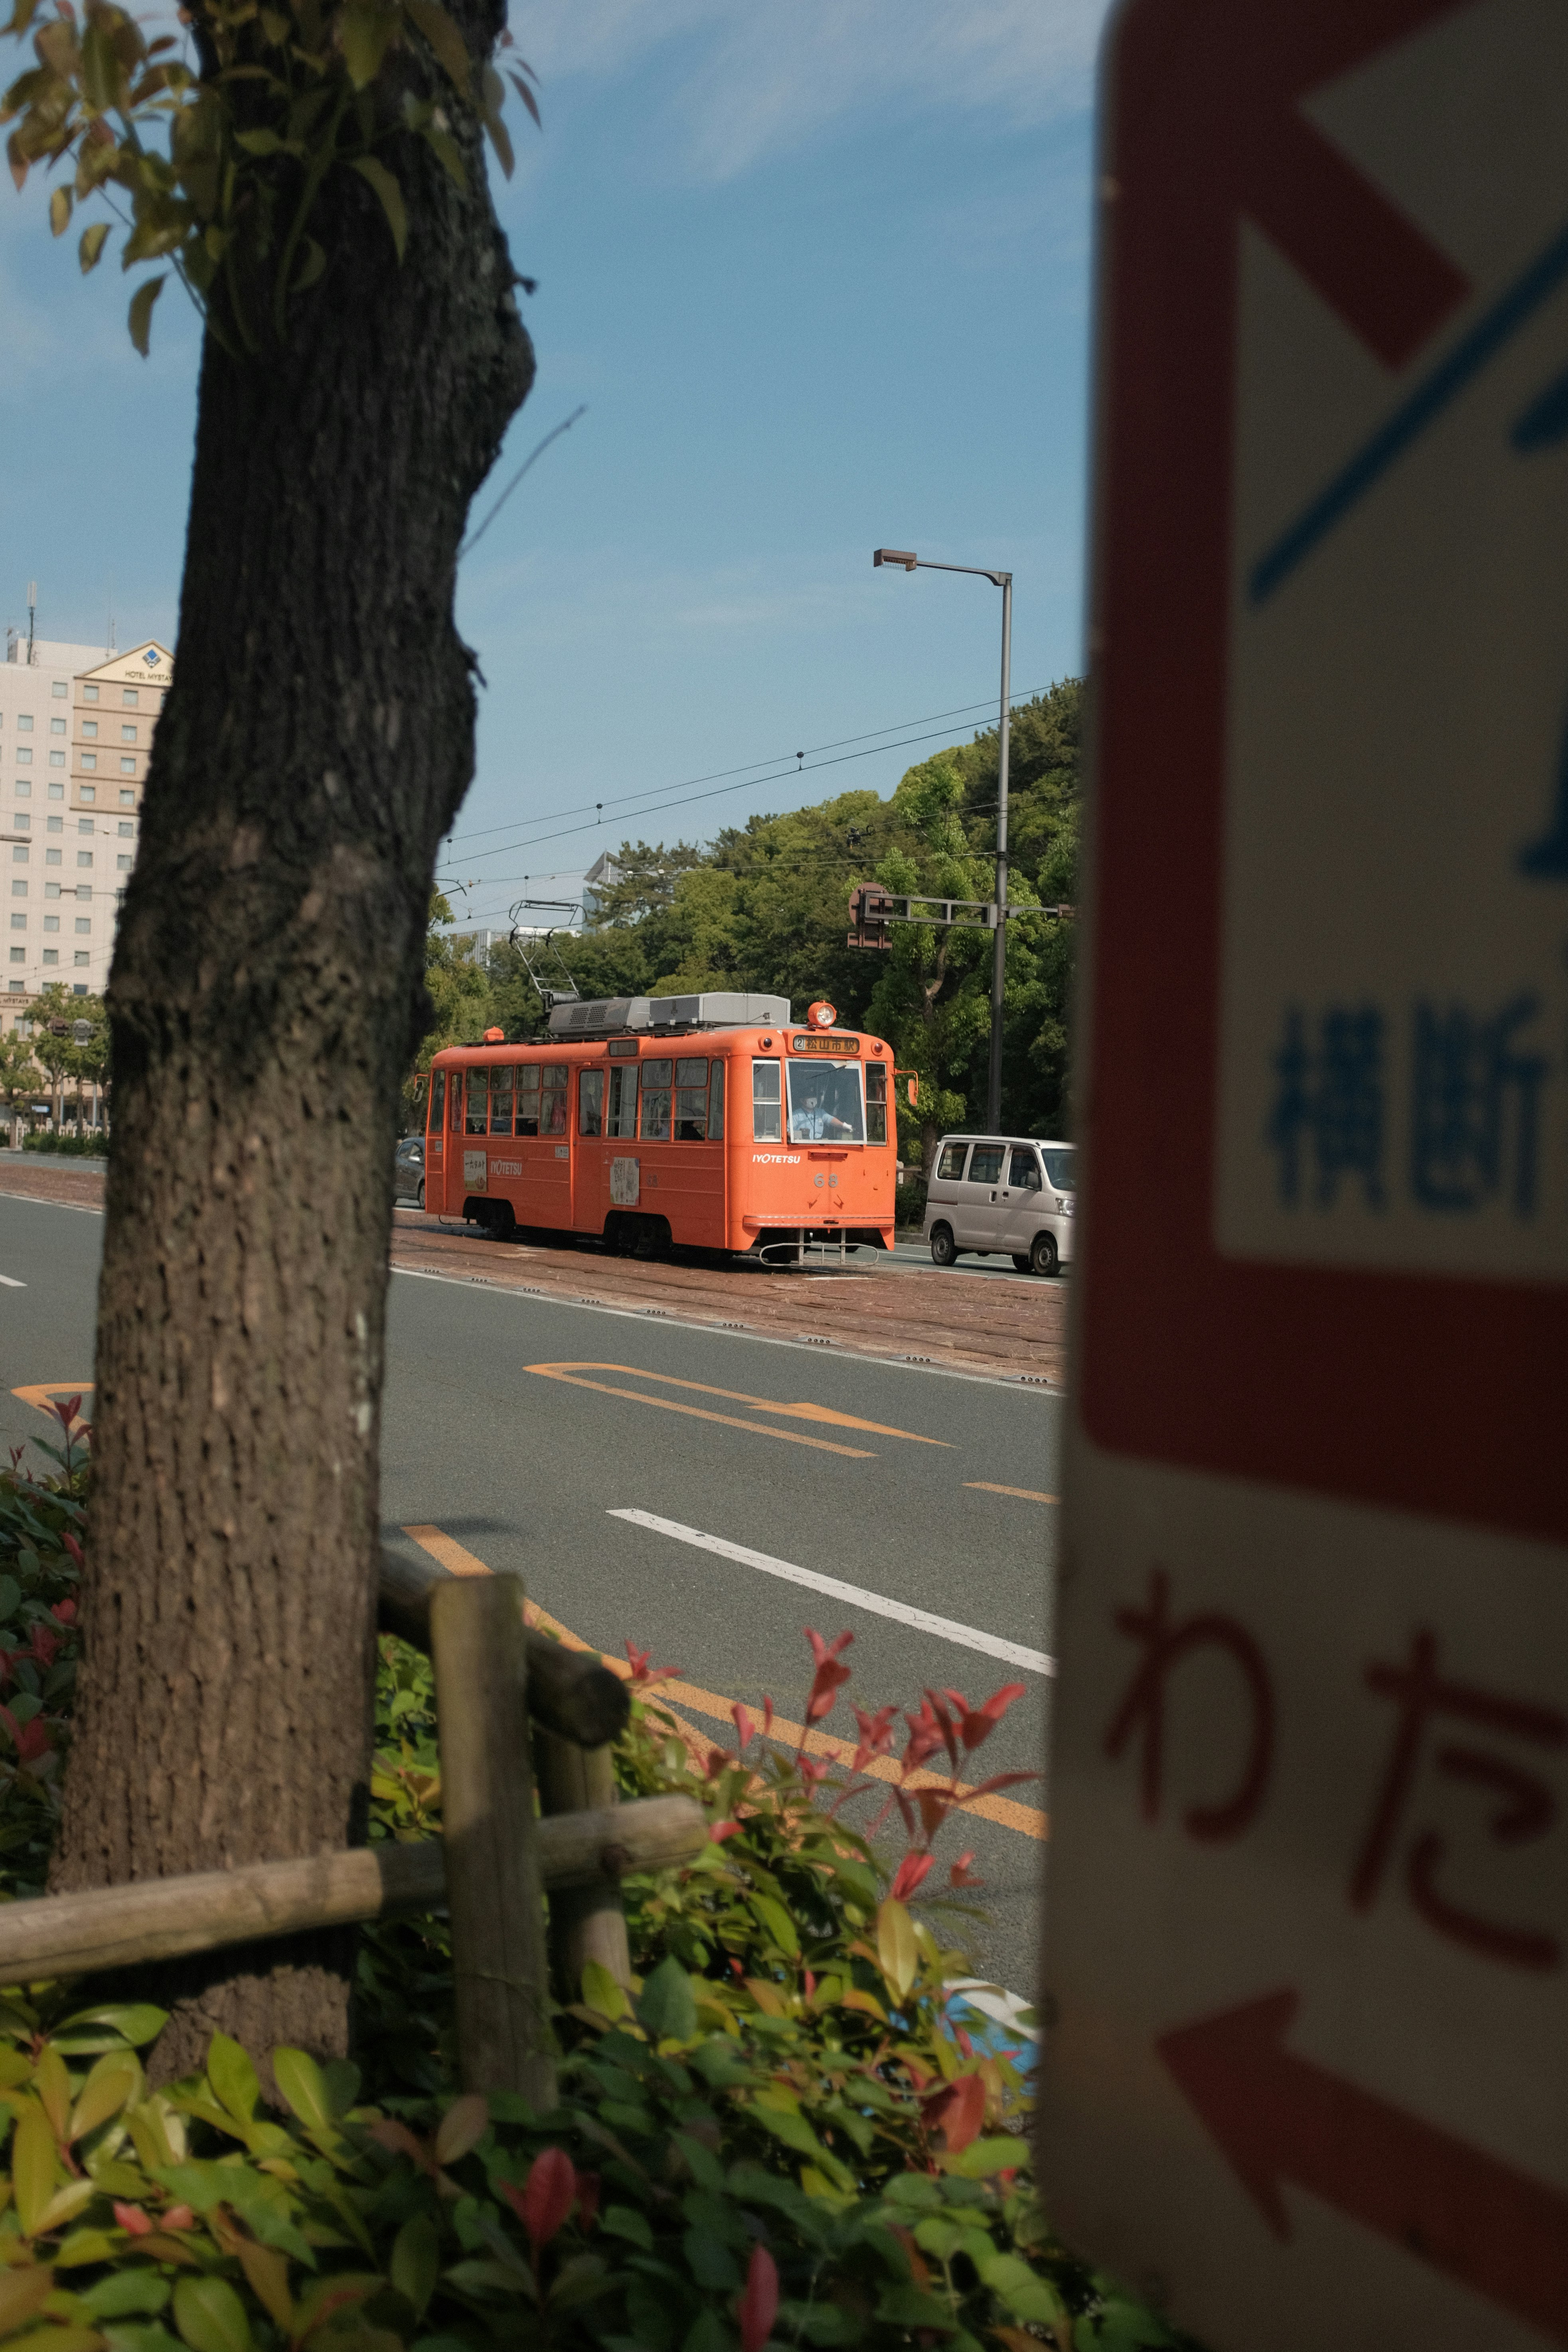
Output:
[[[1521,990],[1481,1018],[1467,1004],[1415,1007],[1410,1190],[1427,1209],[1479,1209],[1509,1190],[1514,1216],[1535,1214],[1535,1143],[1544,1054],[1514,1033],[1540,1014]],[[1512,1183],[1509,1183],[1512,1162]]]

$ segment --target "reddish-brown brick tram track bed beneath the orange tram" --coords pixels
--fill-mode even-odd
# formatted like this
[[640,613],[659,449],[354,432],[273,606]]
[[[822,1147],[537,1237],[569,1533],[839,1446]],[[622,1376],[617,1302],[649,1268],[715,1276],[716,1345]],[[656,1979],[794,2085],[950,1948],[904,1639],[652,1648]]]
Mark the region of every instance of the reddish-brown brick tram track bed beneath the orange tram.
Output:
[[[103,1176],[45,1160],[0,1157],[0,1192],[101,1207]],[[663,1312],[759,1338],[811,1341],[839,1355],[929,1362],[1060,1388],[1067,1359],[1065,1282],[983,1282],[969,1275],[891,1272],[860,1251],[844,1270],[738,1265],[677,1249],[668,1258],[614,1258],[595,1242],[520,1235],[491,1242],[433,1216],[393,1221],[393,1265],[494,1289],[536,1291],[583,1305]]]

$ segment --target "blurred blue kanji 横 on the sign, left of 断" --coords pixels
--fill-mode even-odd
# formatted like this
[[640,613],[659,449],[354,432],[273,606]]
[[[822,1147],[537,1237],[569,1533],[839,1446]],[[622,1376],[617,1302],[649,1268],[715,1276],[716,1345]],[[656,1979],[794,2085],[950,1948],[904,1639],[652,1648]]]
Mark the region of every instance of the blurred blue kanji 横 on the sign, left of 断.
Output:
[[1359,1176],[1368,1207],[1382,1209],[1382,1014],[1375,1004],[1331,1004],[1307,1044],[1307,1016],[1286,1007],[1274,1054],[1279,1091],[1267,1141],[1279,1152],[1279,1197],[1295,1207],[1312,1160],[1316,1202],[1333,1207],[1342,1176]]

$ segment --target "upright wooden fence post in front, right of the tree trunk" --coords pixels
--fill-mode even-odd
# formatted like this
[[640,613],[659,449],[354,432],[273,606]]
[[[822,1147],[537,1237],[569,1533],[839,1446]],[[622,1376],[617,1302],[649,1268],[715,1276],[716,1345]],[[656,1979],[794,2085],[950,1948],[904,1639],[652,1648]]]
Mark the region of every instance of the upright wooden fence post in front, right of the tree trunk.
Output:
[[437,1585],[430,1653],[458,2072],[465,2091],[522,2091],[548,2112],[555,2063],[520,1581]]

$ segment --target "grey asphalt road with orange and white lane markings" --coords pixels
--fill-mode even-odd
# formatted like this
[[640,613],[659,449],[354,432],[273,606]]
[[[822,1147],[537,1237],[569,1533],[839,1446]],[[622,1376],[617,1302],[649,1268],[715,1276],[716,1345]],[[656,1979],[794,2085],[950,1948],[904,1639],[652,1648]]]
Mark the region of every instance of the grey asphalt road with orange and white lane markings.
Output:
[[[9,1444],[40,1432],[14,1388],[89,1376],[99,1240],[94,1214],[0,1197],[0,1277],[9,1277],[0,1284],[0,1437]],[[684,1682],[755,1712],[771,1696],[795,1722],[811,1682],[804,1628],[827,1637],[849,1628],[853,1682],[825,1729],[851,1736],[851,1700],[914,1705],[924,1686],[978,1700],[1023,1682],[1025,1698],[966,1771],[971,1780],[1044,1764],[1048,1677],[985,1644],[1051,1651],[1056,1508],[1044,1498],[1058,1491],[1058,1399],[1013,1383],[393,1277],[388,1543],[409,1550],[402,1529],[437,1526],[489,1566],[520,1571],[588,1642],[651,1644],[654,1661],[682,1668]],[[802,1588],[691,1536],[835,1578],[865,1599]],[[719,1722],[701,1729],[724,1736]],[[1044,1809],[1041,1785],[1013,1797]],[[990,1926],[969,1931],[976,1959],[1027,1994],[1044,1846],[992,1820],[947,1825],[931,1889],[966,1846],[987,1882]]]

